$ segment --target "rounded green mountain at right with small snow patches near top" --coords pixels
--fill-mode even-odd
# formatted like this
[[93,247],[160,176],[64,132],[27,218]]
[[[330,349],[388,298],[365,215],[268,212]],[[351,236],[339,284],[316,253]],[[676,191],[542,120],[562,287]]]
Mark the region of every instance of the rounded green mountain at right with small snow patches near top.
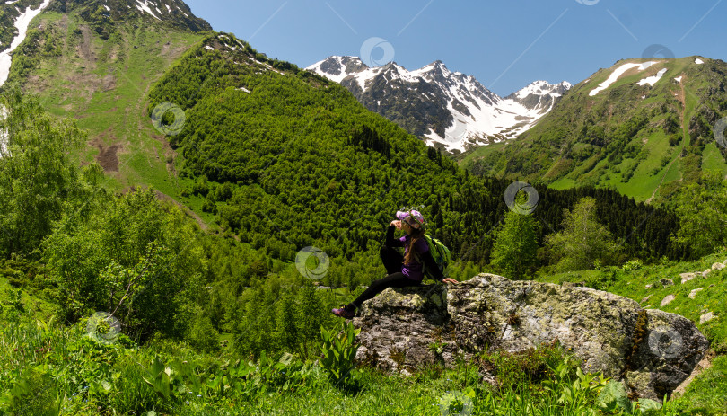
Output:
[[[727,64],[697,57],[625,59],[565,93],[537,126],[500,148],[461,158],[474,173],[609,187],[636,200],[667,198],[703,170],[727,173],[713,127],[727,115]],[[656,63],[642,68],[629,64]],[[619,68],[613,84],[593,93]],[[661,77],[653,85],[640,81]]]

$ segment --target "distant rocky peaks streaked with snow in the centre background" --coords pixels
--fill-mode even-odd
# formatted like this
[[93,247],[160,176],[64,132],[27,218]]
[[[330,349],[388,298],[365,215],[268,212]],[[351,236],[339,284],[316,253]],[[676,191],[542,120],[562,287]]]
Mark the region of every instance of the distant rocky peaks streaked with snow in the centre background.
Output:
[[[402,89],[419,92],[416,100],[421,108],[413,111],[411,117],[427,123],[420,131],[429,144],[440,143],[450,151],[465,151],[517,137],[550,111],[572,86],[567,82],[554,85],[536,81],[503,98],[486,89],[474,76],[452,72],[439,60],[408,71],[395,62],[369,67],[360,58],[330,57],[307,69],[344,84],[362,102],[368,98],[370,110],[381,114],[387,106],[396,105],[398,94],[399,101],[407,96],[400,94]],[[439,123],[436,128],[434,125],[442,121],[444,102],[451,117],[448,116],[446,125]]]

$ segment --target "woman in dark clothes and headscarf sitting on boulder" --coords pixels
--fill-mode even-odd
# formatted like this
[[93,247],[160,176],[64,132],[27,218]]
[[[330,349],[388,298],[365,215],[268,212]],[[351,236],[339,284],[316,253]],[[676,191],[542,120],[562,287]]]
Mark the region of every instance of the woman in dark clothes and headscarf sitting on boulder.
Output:
[[[422,214],[416,210],[398,211],[397,218],[399,220],[391,221],[386,233],[386,244],[381,247],[380,252],[381,261],[383,261],[388,275],[372,282],[371,286],[364,290],[355,301],[341,308],[333,309],[331,311],[333,314],[351,319],[354,317],[355,310],[361,309],[364,301],[375,297],[385,288],[420,286],[424,279],[424,265],[421,261],[424,261],[426,268],[434,273],[434,279],[445,283],[458,283],[455,279],[444,278],[432,253],[429,252],[429,244],[424,238],[425,219]],[[394,228],[403,230],[407,235],[399,239],[394,238]],[[404,247],[404,255],[402,256],[394,247]]]

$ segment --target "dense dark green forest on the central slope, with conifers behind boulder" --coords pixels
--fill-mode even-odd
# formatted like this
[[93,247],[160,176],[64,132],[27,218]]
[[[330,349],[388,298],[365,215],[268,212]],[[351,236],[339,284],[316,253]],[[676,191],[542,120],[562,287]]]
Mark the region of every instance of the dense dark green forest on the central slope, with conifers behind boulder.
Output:
[[[292,261],[300,247],[315,245],[345,261],[361,263],[357,256],[369,253],[363,258],[375,263],[396,209],[421,206],[455,258],[489,260],[510,182],[469,176],[337,84],[220,34],[190,50],[150,97],[150,109],[162,102],[185,109],[183,128],[170,137],[183,156],[180,174],[197,178],[185,193],[206,196],[224,228],[273,257]],[[539,191],[541,242],[560,228],[563,208],[592,195],[601,220],[627,239],[626,257],[687,255],[670,243],[673,214],[654,215],[608,190]],[[335,270],[331,278],[339,279]]]

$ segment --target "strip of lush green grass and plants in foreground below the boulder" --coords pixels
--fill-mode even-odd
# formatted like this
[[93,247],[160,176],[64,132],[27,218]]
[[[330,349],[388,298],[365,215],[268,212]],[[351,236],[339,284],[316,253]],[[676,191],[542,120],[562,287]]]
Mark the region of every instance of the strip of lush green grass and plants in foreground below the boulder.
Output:
[[[218,356],[205,356],[169,341],[140,347],[123,335],[106,344],[93,341],[83,322],[63,327],[13,311],[5,311],[3,318],[4,323],[14,324],[0,328],[0,390],[4,391],[0,412],[19,408],[30,412],[32,406],[38,413],[59,400],[60,415],[155,411],[160,415],[435,416],[447,414],[442,406],[450,412],[458,408],[458,401],[451,400],[456,394],[460,404],[471,405],[469,414],[538,410],[542,416],[575,416],[595,406],[602,385],[599,378],[577,375],[576,363],[556,347],[520,355],[483,354],[476,362],[460,361],[449,369],[426,367],[413,376],[358,367],[345,382],[337,383],[314,357],[307,360],[308,367],[302,367],[299,358],[287,364],[261,358],[250,367],[251,373],[238,373],[237,368],[247,366],[245,362],[238,366],[229,347]],[[166,366],[166,373],[150,373],[153,359],[161,361],[162,369]],[[479,375],[484,363],[500,375],[496,392]],[[194,373],[184,376],[182,368]],[[553,368],[558,368],[558,376]],[[215,386],[222,376],[225,385]],[[203,385],[193,383],[197,377]],[[556,383],[544,382],[552,378]],[[580,385],[574,399],[557,403],[566,389],[573,388],[574,380]]]

